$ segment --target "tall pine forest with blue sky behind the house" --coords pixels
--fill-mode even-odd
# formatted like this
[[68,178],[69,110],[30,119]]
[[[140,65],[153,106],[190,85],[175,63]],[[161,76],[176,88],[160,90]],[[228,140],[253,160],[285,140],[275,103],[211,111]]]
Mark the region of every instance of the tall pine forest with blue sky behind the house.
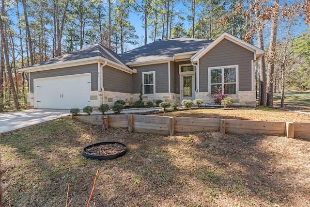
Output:
[[[266,51],[256,64],[259,104],[310,90],[310,1],[1,0],[0,111],[26,108],[18,69],[99,43],[117,53],[177,38],[228,32]],[[137,32],[136,32],[137,31]]]

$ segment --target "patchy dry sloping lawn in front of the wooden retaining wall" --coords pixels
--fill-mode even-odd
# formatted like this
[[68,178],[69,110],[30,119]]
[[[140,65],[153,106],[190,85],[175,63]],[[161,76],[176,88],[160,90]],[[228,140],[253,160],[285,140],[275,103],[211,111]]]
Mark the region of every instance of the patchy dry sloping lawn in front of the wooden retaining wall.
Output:
[[[112,160],[85,146],[119,141]],[[310,207],[310,142],[281,136],[128,133],[60,119],[0,138],[5,207]],[[93,206],[94,198],[92,199]]]

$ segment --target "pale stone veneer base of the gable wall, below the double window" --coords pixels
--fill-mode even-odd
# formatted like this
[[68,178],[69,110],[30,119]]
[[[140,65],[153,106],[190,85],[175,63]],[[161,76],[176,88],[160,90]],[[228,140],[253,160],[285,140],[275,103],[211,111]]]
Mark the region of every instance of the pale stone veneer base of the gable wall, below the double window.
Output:
[[[237,94],[230,95],[233,98],[234,106],[256,106],[256,92],[255,91],[238,91]],[[209,92],[196,93],[197,99],[202,99],[206,104],[214,104]]]

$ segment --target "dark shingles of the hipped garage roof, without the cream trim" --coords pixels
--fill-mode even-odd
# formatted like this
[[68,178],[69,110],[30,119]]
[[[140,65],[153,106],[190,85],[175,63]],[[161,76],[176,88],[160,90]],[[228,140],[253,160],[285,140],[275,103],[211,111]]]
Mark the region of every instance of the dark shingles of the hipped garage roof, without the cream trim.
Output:
[[79,60],[79,59],[84,59],[84,58],[92,58],[92,57],[97,57],[101,56],[103,58],[106,58],[114,63],[121,64],[124,67],[127,67],[124,64],[124,61],[122,58],[112,50],[105,48],[99,44],[92,45],[87,48],[82,48],[77,51],[67,53],[55,58],[52,58],[50,60],[47,60],[45,62],[39,63],[39,64],[34,64],[33,66],[39,66],[39,65],[46,65],[46,64],[55,64],[55,63],[61,63],[65,61],[74,61],[74,60]]

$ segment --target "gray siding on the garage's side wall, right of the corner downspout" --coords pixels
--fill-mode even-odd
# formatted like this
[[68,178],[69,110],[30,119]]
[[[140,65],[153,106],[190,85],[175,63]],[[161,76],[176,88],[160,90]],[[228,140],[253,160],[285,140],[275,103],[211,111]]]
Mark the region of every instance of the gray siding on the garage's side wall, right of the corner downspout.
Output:
[[105,66],[103,67],[103,87],[105,91],[132,93],[132,75]]

